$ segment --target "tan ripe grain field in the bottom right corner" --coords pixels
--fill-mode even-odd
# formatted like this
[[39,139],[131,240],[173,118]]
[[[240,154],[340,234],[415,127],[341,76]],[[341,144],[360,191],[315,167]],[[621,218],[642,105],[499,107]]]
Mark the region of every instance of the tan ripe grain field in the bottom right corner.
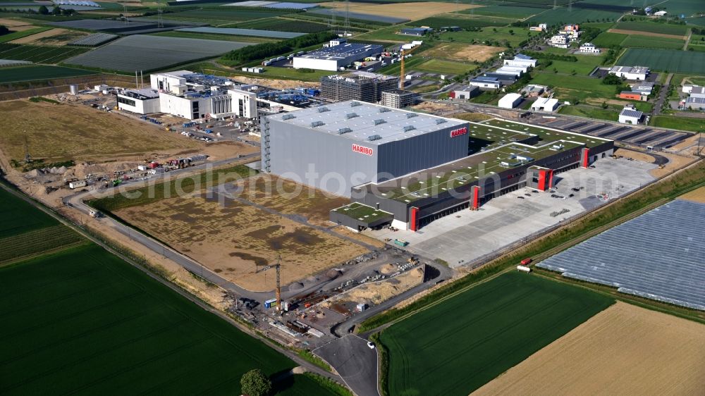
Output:
[[473,395],[704,395],[705,325],[618,302]]

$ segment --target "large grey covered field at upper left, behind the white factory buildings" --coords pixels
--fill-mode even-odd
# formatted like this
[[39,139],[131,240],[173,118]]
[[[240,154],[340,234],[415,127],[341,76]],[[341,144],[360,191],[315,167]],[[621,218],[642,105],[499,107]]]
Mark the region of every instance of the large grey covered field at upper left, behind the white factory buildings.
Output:
[[[247,45],[250,43],[132,35],[67,59],[66,63],[104,70],[147,71],[166,68],[177,63],[212,58]],[[0,56],[2,56],[1,52]]]

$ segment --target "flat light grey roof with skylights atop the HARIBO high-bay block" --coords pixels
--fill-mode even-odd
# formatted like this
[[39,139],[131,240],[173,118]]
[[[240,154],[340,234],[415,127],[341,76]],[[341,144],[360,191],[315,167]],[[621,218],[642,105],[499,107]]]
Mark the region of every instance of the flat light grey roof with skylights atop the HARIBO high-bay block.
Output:
[[274,114],[268,118],[374,145],[467,124],[462,120],[393,109],[363,101],[341,101],[290,113]]

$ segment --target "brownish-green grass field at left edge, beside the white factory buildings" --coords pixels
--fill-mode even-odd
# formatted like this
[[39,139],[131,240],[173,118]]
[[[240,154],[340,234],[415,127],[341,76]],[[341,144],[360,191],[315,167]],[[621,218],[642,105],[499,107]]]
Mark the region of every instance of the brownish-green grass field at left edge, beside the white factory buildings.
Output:
[[[164,139],[165,132],[152,125],[80,104],[4,101],[0,103],[0,113],[16,120],[0,125],[0,147],[8,159],[25,157],[25,136],[32,158],[47,162],[121,159],[125,155],[197,151],[203,147],[200,142],[180,135]],[[42,117],[27,117],[27,114],[42,114]]]

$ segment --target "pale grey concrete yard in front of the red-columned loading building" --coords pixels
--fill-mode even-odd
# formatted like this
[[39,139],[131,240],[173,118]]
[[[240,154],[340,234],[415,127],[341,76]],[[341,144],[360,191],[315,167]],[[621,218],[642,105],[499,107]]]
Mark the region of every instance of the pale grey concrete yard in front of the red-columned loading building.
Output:
[[[479,211],[458,211],[439,218],[416,233],[388,228],[364,233],[379,239],[406,240],[409,242],[406,249],[414,254],[443,259],[452,267],[462,266],[599,206],[604,202],[597,197],[599,194],[611,199],[637,189],[654,180],[649,170],[656,165],[608,157],[596,161],[594,167],[556,175],[554,190],[565,199],[553,198],[551,192],[534,193],[531,188],[522,188],[491,199]],[[573,187],[584,189],[573,192]],[[568,197],[569,194],[575,197]],[[563,209],[568,212],[551,216],[552,212]]]

